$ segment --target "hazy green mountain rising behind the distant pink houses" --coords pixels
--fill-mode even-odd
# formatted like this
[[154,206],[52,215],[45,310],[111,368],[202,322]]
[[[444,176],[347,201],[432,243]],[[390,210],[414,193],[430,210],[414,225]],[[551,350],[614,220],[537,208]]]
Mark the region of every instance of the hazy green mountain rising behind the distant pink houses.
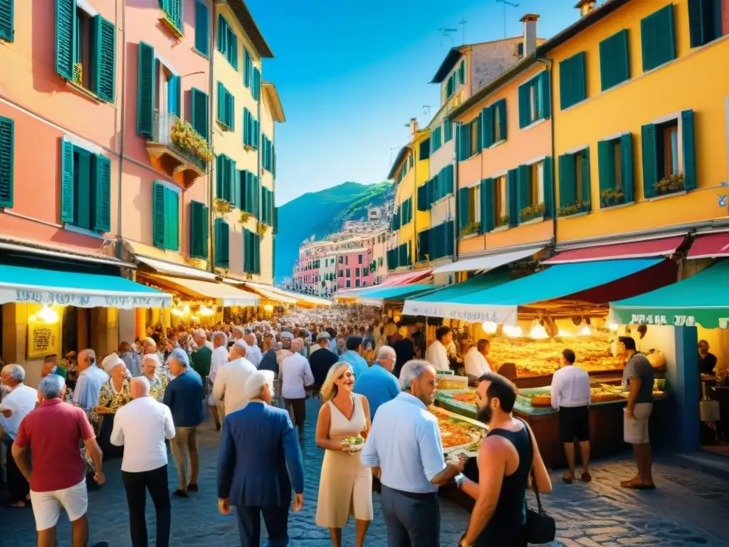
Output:
[[276,234],[276,282],[290,277],[306,238],[324,238],[342,228],[345,220],[364,220],[367,208],[381,206],[393,191],[391,182],[362,185],[343,182],[338,186],[300,195],[278,208]]

